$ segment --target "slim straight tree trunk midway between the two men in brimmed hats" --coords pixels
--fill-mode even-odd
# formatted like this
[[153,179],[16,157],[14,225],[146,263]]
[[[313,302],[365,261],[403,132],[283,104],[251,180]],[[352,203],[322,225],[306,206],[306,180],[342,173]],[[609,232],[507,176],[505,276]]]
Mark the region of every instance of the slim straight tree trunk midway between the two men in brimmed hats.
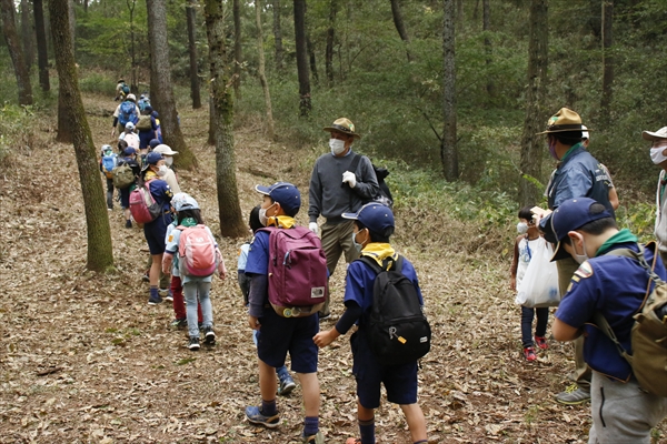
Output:
[[456,148],[456,65],[454,33],[454,1],[444,0],[442,19],[442,144],[440,159],[445,179],[452,182],[458,179],[458,150]]

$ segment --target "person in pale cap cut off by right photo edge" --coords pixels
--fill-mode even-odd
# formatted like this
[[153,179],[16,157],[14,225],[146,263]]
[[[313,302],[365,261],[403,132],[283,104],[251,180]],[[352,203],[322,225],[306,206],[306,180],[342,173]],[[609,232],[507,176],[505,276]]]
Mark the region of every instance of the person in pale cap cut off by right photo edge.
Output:
[[650,145],[650,160],[663,169],[656,191],[655,235],[658,240],[658,251],[663,263],[667,264],[667,218],[664,216],[665,211],[667,211],[667,199],[665,199],[665,185],[667,185],[667,176],[665,175],[665,171],[667,171],[667,127],[663,127],[655,132],[644,131],[641,137],[644,140],[653,142]]

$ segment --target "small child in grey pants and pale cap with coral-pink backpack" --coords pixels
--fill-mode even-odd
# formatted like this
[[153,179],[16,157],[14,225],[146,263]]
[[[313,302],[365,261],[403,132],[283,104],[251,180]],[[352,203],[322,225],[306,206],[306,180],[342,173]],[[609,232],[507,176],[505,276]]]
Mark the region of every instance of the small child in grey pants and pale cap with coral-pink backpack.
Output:
[[177,200],[173,208],[178,224],[171,231],[165,249],[162,272],[171,271],[173,255],[178,252],[178,268],[183,284],[190,336],[188,349],[197,351],[199,350],[197,301],[199,299],[203,315],[203,342],[207,345],[213,345],[216,333],[213,331],[213,310],[209,296],[211,281],[216,271],[220,279],[225,279],[227,269],[213,233],[203,224],[197,201],[186,196]]

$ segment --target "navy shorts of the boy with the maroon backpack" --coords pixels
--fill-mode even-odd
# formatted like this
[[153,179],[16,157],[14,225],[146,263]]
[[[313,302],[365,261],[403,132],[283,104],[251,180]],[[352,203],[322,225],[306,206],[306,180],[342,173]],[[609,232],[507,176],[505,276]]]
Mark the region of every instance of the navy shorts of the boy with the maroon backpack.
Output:
[[262,362],[279,369],[285,365],[285,357],[289,352],[292,372],[317,372],[318,350],[312,342],[312,336],[319,332],[317,314],[281,317],[268,306],[263,309],[259,323],[261,327],[257,335],[257,354]]

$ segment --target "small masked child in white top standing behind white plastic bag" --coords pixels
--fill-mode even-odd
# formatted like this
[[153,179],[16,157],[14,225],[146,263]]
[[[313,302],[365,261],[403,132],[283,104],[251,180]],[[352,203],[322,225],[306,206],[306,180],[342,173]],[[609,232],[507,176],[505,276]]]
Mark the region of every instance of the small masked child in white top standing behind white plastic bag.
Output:
[[[519,210],[519,223],[517,224],[519,235],[515,241],[514,260],[511,262],[509,287],[516,291],[521,284],[526,270],[530,263],[531,252],[537,248],[538,242],[545,242],[539,230],[532,221],[530,206],[524,206]],[[537,325],[535,327],[535,343],[532,342],[532,319],[537,313]],[[535,354],[535,344],[541,350],[547,350],[547,323],[549,322],[549,309],[530,309],[521,306],[521,344],[524,346],[524,357],[532,362],[537,360]]]

